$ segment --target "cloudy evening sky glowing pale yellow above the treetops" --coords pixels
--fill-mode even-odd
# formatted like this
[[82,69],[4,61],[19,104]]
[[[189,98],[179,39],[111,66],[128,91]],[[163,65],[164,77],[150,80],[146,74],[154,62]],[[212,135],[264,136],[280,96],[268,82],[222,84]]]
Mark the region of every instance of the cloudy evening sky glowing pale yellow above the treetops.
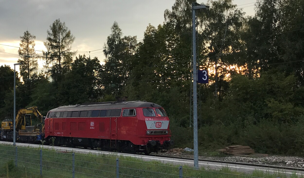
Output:
[[[116,21],[123,36],[137,36],[143,33],[149,23],[158,26],[164,23],[164,11],[171,10],[175,0],[0,0],[0,66],[14,67],[19,59],[20,36],[28,30],[36,36],[35,50],[46,51],[43,42],[47,30],[56,20],[65,22],[75,36],[72,51],[78,54],[97,56],[104,60],[102,49],[111,26]],[[207,1],[197,0],[198,3]],[[256,0],[234,0],[246,15],[254,15]],[[6,45],[6,46],[5,46]],[[13,46],[13,47],[12,47]],[[96,50],[96,51],[94,51]],[[37,54],[42,55],[41,52]],[[76,56],[78,56],[78,54]],[[40,69],[43,61],[38,61]],[[16,70],[19,67],[16,66]]]

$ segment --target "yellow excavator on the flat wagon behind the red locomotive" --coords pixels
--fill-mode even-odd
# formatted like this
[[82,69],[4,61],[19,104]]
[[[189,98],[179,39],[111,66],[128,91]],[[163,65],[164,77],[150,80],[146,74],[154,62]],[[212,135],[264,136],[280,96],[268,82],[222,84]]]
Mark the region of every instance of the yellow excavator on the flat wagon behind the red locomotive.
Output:
[[[30,114],[34,114],[40,121],[41,124],[32,126],[32,116]],[[30,108],[22,108],[19,109],[17,116],[16,116],[16,132],[19,132],[19,135],[28,135],[28,134],[21,134],[26,132],[39,132],[38,130],[43,130],[43,116],[38,111],[38,107],[33,106]],[[40,129],[39,129],[40,128]],[[13,134],[14,125],[13,121],[6,119],[1,122],[1,130],[2,134]]]

